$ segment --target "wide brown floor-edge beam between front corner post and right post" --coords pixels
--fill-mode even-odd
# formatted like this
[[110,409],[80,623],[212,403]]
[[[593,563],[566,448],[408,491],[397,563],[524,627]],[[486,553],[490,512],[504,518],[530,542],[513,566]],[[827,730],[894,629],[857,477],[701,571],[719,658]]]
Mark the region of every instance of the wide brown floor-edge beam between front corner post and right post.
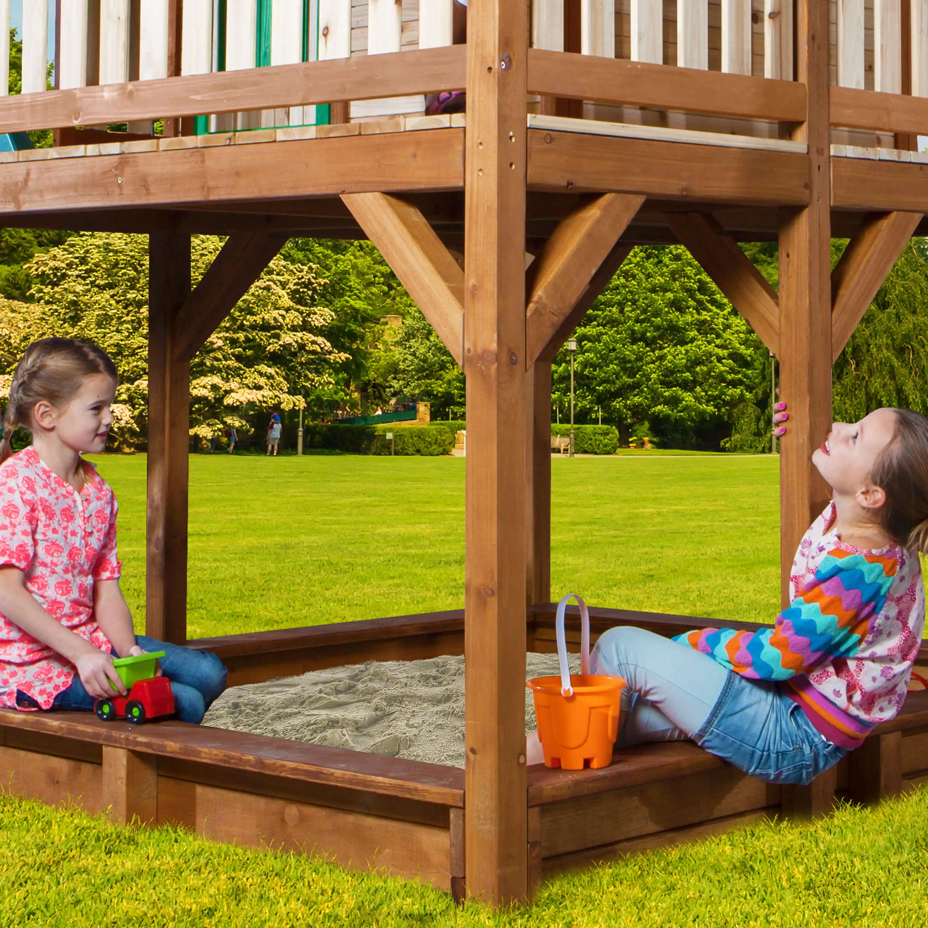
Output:
[[541,130],[529,133],[528,182],[574,193],[757,205],[801,206],[809,195],[808,161],[800,154]]

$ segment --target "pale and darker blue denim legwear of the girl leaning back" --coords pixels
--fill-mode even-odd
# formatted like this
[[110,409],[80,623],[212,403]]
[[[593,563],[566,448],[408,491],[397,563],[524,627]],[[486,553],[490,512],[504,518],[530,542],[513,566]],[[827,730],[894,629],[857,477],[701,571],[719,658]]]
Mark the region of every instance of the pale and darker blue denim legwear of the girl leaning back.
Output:
[[741,677],[707,654],[642,628],[602,635],[590,671],[628,684],[617,747],[692,739],[761,780],[801,784],[847,754],[776,683]]

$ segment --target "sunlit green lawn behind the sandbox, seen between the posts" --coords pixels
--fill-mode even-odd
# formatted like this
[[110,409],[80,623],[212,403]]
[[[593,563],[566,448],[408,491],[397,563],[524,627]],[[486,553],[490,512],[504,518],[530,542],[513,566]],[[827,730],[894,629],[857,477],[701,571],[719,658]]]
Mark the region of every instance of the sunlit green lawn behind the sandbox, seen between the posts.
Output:
[[[120,499],[122,586],[145,618],[144,456],[98,458]],[[776,458],[552,461],[552,596],[772,621]],[[190,458],[189,635],[456,609],[464,459]]]

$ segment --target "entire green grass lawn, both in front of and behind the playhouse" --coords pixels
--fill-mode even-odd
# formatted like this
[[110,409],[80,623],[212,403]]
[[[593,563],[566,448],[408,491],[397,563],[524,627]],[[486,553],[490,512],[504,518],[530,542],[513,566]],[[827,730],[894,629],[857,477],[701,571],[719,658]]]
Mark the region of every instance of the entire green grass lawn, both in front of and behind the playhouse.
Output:
[[[464,461],[191,458],[190,634],[460,606]],[[123,586],[144,615],[145,458],[105,457]],[[598,605],[771,621],[777,461],[555,459],[553,587]],[[122,829],[0,796],[0,928],[376,925],[882,928],[928,923],[928,793],[766,823],[547,883],[532,909],[444,894],[314,857]]]

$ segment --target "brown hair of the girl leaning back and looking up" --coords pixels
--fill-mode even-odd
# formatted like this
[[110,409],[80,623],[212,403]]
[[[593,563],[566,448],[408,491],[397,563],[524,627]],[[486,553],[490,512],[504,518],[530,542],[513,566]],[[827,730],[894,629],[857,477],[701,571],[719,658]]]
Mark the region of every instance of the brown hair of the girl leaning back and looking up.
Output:
[[886,502],[876,511],[883,531],[903,548],[928,553],[928,419],[894,409],[896,430],[870,477]]

